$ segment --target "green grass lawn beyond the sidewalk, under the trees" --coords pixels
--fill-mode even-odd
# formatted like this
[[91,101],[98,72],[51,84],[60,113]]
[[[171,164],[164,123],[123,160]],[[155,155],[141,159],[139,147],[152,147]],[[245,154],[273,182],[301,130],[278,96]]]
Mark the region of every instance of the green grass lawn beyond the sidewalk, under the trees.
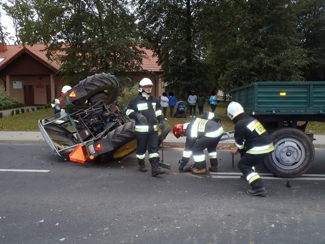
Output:
[[[219,101],[215,114],[222,119],[222,127],[224,131],[234,130],[234,124],[226,114],[226,108],[230,101]],[[176,108],[175,108],[176,109]],[[205,111],[211,111],[209,104],[205,104]],[[197,115],[198,115],[197,108]],[[175,111],[174,111],[175,113]],[[15,114],[0,118],[0,131],[39,131],[38,120],[50,117],[53,115],[53,108],[40,109],[24,113]],[[177,123],[190,122],[188,112],[186,118],[171,118],[169,108],[167,109],[166,125],[173,127]],[[310,122],[306,128],[306,133],[325,134],[325,123]]]

